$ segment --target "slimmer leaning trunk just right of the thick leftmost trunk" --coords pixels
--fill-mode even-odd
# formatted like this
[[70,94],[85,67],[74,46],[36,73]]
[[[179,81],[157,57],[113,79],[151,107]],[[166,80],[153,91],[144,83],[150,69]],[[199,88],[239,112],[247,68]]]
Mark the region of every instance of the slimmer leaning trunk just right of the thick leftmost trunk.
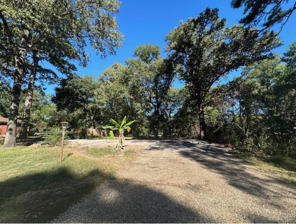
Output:
[[24,105],[24,118],[22,120],[23,137],[28,136],[27,127],[30,121],[30,111],[31,111],[32,101],[33,101],[33,91],[34,91],[38,62],[39,62],[39,52],[33,52],[33,63],[31,65],[30,80],[28,84],[28,91],[27,91],[27,96],[26,96],[25,105]]

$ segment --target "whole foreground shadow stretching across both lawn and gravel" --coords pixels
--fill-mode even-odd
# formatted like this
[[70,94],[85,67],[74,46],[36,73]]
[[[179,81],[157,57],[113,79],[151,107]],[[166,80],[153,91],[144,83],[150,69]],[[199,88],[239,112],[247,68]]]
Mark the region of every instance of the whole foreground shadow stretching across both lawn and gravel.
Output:
[[[106,179],[109,181],[93,191],[99,185],[98,180],[102,182]],[[60,168],[49,173],[7,180],[0,183],[0,189],[0,223],[213,221],[163,193],[140,184],[117,180],[96,169],[77,178],[68,169]],[[78,201],[82,203],[76,204]],[[74,211],[61,215],[73,204],[76,204]]]

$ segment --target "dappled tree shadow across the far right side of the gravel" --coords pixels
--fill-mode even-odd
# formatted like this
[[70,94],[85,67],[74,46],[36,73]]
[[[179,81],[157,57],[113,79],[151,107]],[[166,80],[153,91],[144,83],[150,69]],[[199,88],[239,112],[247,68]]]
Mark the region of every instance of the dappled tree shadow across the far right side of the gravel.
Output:
[[[186,140],[163,141],[151,148],[151,150],[164,149],[176,150],[181,156],[203,164],[207,169],[221,174],[229,185],[263,199],[265,203],[275,208],[281,209],[281,206],[270,200],[271,198],[281,200],[291,199],[292,196],[296,200],[296,187],[292,183],[272,177],[258,169],[249,171],[246,161],[235,158],[221,148],[208,145],[206,142],[197,144]],[[254,175],[255,173],[260,174],[260,177]],[[276,188],[271,188],[270,185],[275,183]]]

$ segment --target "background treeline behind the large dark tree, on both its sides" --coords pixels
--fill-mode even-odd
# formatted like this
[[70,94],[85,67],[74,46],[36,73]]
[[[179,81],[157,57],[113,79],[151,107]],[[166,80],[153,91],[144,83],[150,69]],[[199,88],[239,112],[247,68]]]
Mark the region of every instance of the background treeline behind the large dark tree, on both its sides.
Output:
[[[149,63],[139,52],[150,55]],[[99,78],[77,75],[60,81],[51,97],[36,90],[31,109],[31,134],[59,127],[101,127],[110,117],[136,119],[132,135],[200,138],[198,111],[189,88],[172,87],[171,64],[150,44],[135,50],[126,64],[114,63]],[[147,56],[147,55],[146,55]],[[146,57],[148,58],[148,57]],[[283,57],[274,54],[245,66],[240,77],[209,90],[204,107],[208,138],[231,143],[240,151],[295,157],[296,43]],[[8,115],[9,85],[1,85],[1,113]],[[157,97],[156,97],[157,96]],[[25,101],[25,91],[21,95]],[[54,102],[54,103],[52,103]],[[22,110],[23,103],[20,105]],[[21,118],[22,114],[20,114]]]

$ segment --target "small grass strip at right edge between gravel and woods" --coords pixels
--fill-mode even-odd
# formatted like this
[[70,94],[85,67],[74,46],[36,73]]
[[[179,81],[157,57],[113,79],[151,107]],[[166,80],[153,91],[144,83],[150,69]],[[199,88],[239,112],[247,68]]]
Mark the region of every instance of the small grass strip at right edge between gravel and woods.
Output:
[[262,169],[268,173],[276,175],[281,179],[296,183],[296,160],[279,156],[274,157],[255,157],[255,156],[239,156],[247,160],[252,165]]

